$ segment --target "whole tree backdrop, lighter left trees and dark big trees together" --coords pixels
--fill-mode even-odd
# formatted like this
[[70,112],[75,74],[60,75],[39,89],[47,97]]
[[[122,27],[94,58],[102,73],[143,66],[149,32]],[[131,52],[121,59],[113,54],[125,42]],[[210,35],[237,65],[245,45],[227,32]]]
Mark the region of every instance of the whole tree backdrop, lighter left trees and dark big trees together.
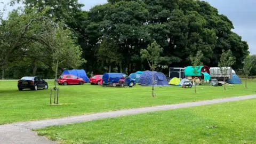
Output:
[[[10,78],[54,76],[54,52],[49,49],[49,42],[42,41],[58,38],[57,33],[52,34],[54,38],[46,38],[52,25],[44,25],[44,20],[35,21],[26,36],[21,36],[29,20],[39,15],[63,23],[61,27],[68,33],[69,42],[60,52],[63,57],[58,58],[59,74],[70,68],[82,68],[93,74],[149,70],[140,52],[154,41],[163,48],[159,65],[169,67],[192,65],[190,55],[198,51],[204,55],[204,65],[218,67],[222,51],[230,50],[232,67],[238,70],[244,67],[244,59],[249,55],[247,43],[232,31],[233,23],[204,1],[109,0],[89,11],[82,10],[84,5],[77,0],[11,1],[17,3],[25,6],[11,12],[7,19],[1,18],[0,23],[0,37],[4,39],[0,40],[1,62],[12,47],[19,47],[2,62],[6,77]],[[156,70],[167,72],[161,67]]]

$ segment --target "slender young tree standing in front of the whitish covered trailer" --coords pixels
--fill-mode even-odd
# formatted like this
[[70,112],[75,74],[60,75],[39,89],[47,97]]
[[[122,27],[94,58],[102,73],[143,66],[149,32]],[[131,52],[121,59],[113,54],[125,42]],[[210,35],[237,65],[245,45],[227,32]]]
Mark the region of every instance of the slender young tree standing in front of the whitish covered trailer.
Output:
[[232,52],[228,50],[225,52],[222,51],[221,58],[219,61],[219,67],[222,75],[224,74],[224,90],[226,91],[226,76],[227,76],[227,67],[231,67],[234,64],[234,58],[232,56]]

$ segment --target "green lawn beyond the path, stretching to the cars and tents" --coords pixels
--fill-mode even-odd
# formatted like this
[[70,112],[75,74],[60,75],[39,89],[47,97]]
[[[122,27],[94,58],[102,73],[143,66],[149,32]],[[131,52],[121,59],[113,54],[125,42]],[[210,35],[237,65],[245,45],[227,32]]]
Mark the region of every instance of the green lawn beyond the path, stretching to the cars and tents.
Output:
[[[49,84],[53,87],[52,81]],[[254,94],[256,81],[249,81],[248,85],[252,88],[246,90],[244,84],[228,86],[226,92],[223,86],[198,86],[197,94],[194,89],[156,87],[157,98],[151,98],[151,87],[139,85],[133,88],[59,86],[59,102],[65,105],[50,106],[50,90],[18,91],[17,82],[0,81],[0,124]]]

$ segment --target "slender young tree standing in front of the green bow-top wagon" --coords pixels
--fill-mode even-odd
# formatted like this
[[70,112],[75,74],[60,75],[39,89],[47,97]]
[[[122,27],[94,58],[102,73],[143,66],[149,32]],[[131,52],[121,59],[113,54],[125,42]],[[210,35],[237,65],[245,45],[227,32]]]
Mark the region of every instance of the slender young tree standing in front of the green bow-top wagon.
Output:
[[[193,73],[195,74],[194,75],[194,78],[196,78],[196,76],[200,73],[201,71],[199,70],[199,66],[203,65],[203,63],[201,62],[202,58],[203,58],[204,54],[202,53],[202,51],[197,51],[195,57],[193,57],[192,55],[190,55],[190,61],[191,61],[191,64],[193,66]],[[194,80],[194,87],[195,87],[195,93],[196,93],[196,84],[195,84],[195,80]]]

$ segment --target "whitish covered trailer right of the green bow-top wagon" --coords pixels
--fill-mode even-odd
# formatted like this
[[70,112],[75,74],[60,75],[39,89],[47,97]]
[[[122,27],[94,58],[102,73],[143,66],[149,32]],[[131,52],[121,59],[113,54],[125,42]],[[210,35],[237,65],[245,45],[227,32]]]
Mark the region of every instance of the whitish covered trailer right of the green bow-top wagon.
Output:
[[[233,74],[232,74],[233,69],[231,67],[226,67],[226,68],[222,67],[222,68],[224,69],[223,74],[221,73],[220,67],[210,68],[211,78],[216,78],[218,81],[224,81],[224,77],[226,77],[225,78],[226,80],[231,79],[233,77]],[[227,72],[226,74],[225,74],[225,71]]]

